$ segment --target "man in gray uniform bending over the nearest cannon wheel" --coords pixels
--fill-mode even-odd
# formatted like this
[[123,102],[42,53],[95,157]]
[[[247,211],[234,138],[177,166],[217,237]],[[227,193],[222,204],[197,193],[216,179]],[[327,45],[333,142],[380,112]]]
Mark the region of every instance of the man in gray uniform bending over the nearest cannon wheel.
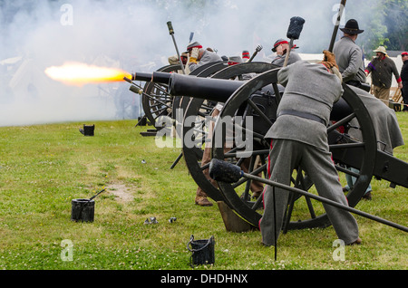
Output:
[[[271,139],[268,177],[289,185],[293,169],[303,168],[321,197],[348,205],[329,152],[326,131],[333,104],[343,94],[342,81],[340,73],[336,72],[335,56],[327,51],[324,53],[325,62],[297,61],[277,73],[278,82],[286,89],[277,109],[277,121],[265,136]],[[276,243],[288,197],[289,192],[281,188],[268,186],[264,190],[264,214],[259,221],[264,245]],[[324,207],[338,238],[345,245],[361,243],[354,216],[335,206],[324,204]]]

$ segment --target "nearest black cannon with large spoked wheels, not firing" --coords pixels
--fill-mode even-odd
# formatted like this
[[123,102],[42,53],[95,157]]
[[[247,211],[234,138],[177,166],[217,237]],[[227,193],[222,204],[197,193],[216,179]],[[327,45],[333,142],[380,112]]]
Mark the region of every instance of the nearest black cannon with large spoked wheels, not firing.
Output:
[[[251,68],[247,66],[249,63],[225,68],[215,73],[211,78],[193,79],[190,76],[172,74],[168,80],[171,95],[187,95],[191,98],[185,113],[186,118],[194,115],[194,113],[199,116],[199,106],[193,107],[194,102],[225,102],[224,108],[216,120],[212,135],[223,135],[225,133],[224,126],[226,123],[223,123],[223,119],[240,120],[235,124],[242,129],[242,134],[245,134],[246,137],[251,136],[253,139],[252,146],[251,149],[245,151],[242,151],[243,147],[239,146],[226,151],[224,144],[228,139],[222,138],[222,143],[219,145],[219,143],[215,142],[217,137],[210,137],[212,141],[212,158],[227,159],[238,165],[242,163],[243,159],[249,159],[248,173],[250,175],[263,175],[266,178],[266,159],[269,146],[267,140],[263,137],[270,125],[273,125],[274,120],[276,120],[276,110],[283,88],[277,83],[279,68],[267,66],[266,63],[254,62],[250,64],[252,65]],[[258,72],[257,76],[248,82],[228,80],[238,74],[254,71]],[[224,79],[215,79],[217,77]],[[331,114],[331,123],[327,126],[327,133],[329,147],[337,170],[357,178],[354,188],[346,195],[349,206],[354,207],[363,197],[364,191],[373,177],[382,178],[393,185],[408,187],[406,173],[408,164],[377,149],[374,126],[363,101],[350,87],[345,84],[343,86],[345,93],[342,99],[335,103]],[[253,116],[254,123],[263,125],[247,126],[248,116]],[[351,120],[358,121],[362,131],[362,139],[352,139],[347,135],[348,125]],[[339,128],[344,128],[344,130],[339,130]],[[184,124],[183,136],[185,137],[189,131],[195,129],[195,126]],[[195,134],[190,133],[189,135]],[[200,140],[201,142],[198,141],[197,143],[197,148],[201,148],[203,143],[209,141],[207,138],[203,138],[203,142],[202,139]],[[262,197],[257,199],[250,197],[251,179],[239,179],[236,183],[219,181],[217,183],[218,187],[216,187],[208,178],[202,176],[202,171],[208,166],[201,167],[198,158],[188,158],[190,150],[189,147],[183,146],[183,153],[192,177],[195,180],[196,178],[202,180],[201,182],[196,180],[197,184],[206,191],[209,197],[215,201],[224,201],[238,216],[250,225],[257,227],[262,214]],[[345,167],[357,168],[359,172],[351,172]],[[296,173],[292,175],[292,182],[293,187],[315,193],[313,183],[301,168],[298,168]],[[304,197],[305,204],[300,203],[301,198],[303,198],[301,195],[291,193],[287,206],[284,232],[288,229],[330,225],[330,221],[322,207],[316,206],[316,202],[314,203],[310,197]]]

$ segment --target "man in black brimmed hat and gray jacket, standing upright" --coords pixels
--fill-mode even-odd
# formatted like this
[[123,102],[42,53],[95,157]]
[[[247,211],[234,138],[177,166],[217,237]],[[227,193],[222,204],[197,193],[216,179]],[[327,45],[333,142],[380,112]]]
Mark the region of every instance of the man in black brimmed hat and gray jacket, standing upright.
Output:
[[335,43],[333,53],[338,70],[342,73],[343,81],[349,85],[361,88],[365,83],[363,52],[355,44],[360,30],[357,21],[350,19],[345,24],[345,28],[340,28],[344,36]]

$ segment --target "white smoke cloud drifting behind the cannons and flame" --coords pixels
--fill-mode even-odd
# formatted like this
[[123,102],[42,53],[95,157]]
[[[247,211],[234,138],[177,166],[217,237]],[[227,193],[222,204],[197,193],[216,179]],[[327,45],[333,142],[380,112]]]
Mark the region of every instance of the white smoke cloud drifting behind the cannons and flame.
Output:
[[196,1],[186,9],[181,0],[0,0],[0,126],[126,117],[119,100],[126,105],[140,97],[128,83],[70,87],[53,82],[44,70],[75,61],[153,72],[176,53],[168,21],[180,52],[192,32],[194,41],[220,55],[252,53],[261,44],[256,61],[264,61],[277,38],[286,37],[292,16],[306,19],[298,52],[321,53],[338,3],[219,0]]

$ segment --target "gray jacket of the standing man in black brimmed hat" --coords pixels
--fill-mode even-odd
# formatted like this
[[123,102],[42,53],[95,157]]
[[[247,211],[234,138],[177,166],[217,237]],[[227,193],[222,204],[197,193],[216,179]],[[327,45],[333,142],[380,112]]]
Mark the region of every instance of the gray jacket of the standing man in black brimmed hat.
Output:
[[344,82],[365,82],[363,53],[352,39],[343,36],[335,43],[333,53]]

